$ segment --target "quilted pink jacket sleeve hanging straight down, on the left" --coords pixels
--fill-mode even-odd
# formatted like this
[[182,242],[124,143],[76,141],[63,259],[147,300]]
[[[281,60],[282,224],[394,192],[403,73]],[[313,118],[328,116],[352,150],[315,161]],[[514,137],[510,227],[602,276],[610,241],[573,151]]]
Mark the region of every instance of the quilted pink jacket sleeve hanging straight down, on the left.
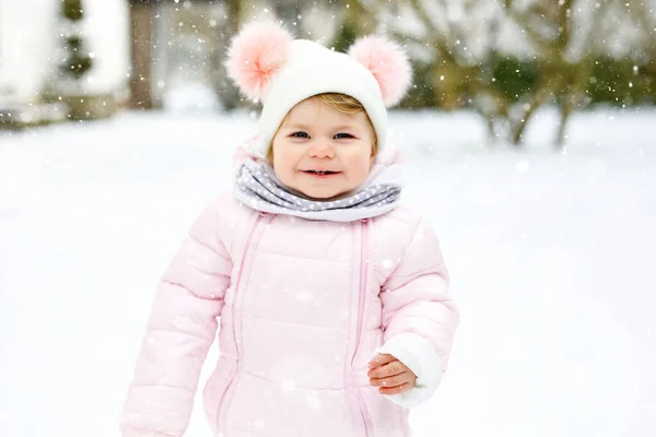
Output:
[[188,426],[232,268],[215,218],[214,203],[162,276],[120,418],[124,437],[179,437]]

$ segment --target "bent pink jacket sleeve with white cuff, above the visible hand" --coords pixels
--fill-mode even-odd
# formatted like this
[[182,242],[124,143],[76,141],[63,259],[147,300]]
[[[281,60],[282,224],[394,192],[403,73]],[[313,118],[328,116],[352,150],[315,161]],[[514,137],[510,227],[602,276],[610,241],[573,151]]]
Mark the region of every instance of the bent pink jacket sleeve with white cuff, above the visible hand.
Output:
[[409,391],[385,397],[412,408],[437,389],[459,323],[440,243],[427,223],[420,221],[380,299],[385,336],[376,352],[395,356],[418,377]]

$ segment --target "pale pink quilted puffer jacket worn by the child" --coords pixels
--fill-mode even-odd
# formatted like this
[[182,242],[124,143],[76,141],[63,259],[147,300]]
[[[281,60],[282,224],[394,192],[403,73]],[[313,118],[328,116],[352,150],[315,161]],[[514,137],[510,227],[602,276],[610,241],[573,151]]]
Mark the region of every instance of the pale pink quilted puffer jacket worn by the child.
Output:
[[[162,279],[124,437],[183,436],[218,318],[221,356],[203,398],[223,437],[408,436],[408,409],[437,388],[458,324],[437,239],[410,210],[311,221],[225,193]],[[415,387],[371,387],[377,353],[410,367]]]

